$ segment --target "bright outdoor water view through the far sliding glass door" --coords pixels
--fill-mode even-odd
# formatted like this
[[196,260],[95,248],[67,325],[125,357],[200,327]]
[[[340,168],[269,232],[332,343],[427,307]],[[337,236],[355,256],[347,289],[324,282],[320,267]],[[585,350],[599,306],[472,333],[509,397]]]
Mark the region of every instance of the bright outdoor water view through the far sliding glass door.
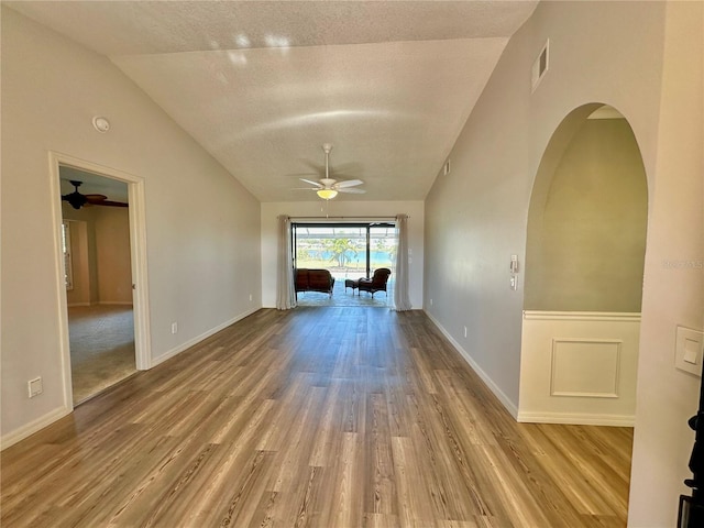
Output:
[[338,279],[369,277],[378,267],[396,265],[397,238],[391,223],[295,223],[297,268],[324,268]]

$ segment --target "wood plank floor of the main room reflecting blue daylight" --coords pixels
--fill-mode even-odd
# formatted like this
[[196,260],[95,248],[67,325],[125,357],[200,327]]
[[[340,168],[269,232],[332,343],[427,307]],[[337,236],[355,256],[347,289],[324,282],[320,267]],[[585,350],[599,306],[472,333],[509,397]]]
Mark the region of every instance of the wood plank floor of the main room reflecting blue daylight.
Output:
[[516,424],[419,311],[261,310],[2,452],[7,527],[623,527],[631,430]]

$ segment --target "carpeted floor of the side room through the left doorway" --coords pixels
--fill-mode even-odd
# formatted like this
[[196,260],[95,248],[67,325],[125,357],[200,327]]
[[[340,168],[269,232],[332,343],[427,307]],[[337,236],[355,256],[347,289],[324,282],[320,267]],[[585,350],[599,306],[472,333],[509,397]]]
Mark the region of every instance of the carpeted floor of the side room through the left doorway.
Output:
[[68,330],[74,405],[136,372],[131,306],[70,307]]

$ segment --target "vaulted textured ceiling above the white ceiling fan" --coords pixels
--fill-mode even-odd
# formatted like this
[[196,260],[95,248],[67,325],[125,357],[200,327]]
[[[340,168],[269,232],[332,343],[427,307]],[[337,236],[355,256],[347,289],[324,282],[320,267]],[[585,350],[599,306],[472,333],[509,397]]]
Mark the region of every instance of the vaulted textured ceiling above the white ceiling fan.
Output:
[[537,4],[4,3],[108,56],[262,201],[315,199],[322,143],[367,191],[336,200],[422,200]]

